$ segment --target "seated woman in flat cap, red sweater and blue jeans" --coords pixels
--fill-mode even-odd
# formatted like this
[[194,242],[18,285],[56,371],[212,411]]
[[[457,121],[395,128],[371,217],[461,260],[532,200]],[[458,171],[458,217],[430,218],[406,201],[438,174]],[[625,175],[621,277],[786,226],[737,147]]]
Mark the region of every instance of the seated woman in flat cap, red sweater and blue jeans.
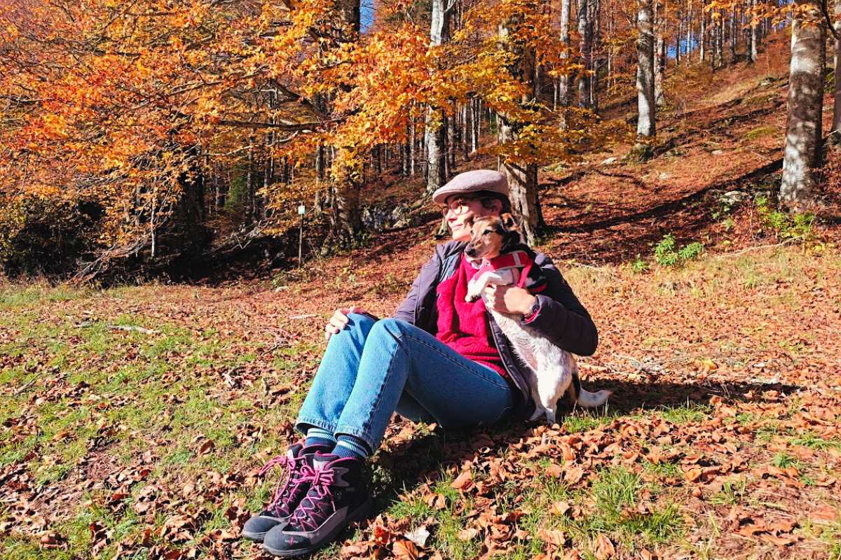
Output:
[[[325,327],[327,350],[296,421],[305,439],[263,469],[281,465],[287,476],[266,510],[243,527],[243,536],[262,540],[267,552],[309,554],[368,515],[362,466],[394,411],[447,429],[489,426],[532,406],[522,366],[484,301],[464,301],[475,272],[463,256],[469,223],[510,212],[505,175],[468,171],[432,199],[444,205],[452,241],[436,247],[394,317],[377,320],[350,307],[336,310]],[[560,348],[595,352],[590,315],[552,261],[533,256],[545,289],[532,295],[491,286],[491,305],[521,315]]]

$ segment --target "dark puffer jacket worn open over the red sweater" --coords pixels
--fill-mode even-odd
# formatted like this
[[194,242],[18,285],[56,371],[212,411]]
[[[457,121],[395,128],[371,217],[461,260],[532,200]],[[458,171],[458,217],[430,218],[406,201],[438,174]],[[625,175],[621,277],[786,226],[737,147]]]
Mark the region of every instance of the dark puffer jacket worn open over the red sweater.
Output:
[[[421,268],[421,274],[415,279],[409,296],[394,313],[394,318],[410,322],[426,332],[435,334],[438,330],[438,309],[436,288],[458,269],[464,246],[467,243],[451,241],[438,245],[435,254]],[[590,313],[584,309],[573,290],[555,265],[545,254],[528,249],[530,256],[540,267],[547,280],[544,290],[536,294],[540,308],[537,316],[528,322],[528,326],[541,332],[558,347],[581,356],[595,352],[598,344],[598,332]],[[511,383],[517,390],[517,411],[521,415],[533,410],[532,397],[528,389],[527,366],[516,357],[510,342],[500,330],[494,317],[488,317],[490,330],[494,336],[496,348],[500,350],[502,364],[508,372]]]

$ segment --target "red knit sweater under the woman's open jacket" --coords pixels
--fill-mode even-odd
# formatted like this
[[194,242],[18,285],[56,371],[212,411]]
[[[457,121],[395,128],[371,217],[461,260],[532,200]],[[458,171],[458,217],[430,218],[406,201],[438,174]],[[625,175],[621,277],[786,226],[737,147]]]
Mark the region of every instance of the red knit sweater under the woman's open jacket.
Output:
[[438,285],[438,333],[436,338],[467,359],[506,376],[500,353],[490,333],[484,301],[464,301],[468,282],[476,269],[462,255],[458,270]]

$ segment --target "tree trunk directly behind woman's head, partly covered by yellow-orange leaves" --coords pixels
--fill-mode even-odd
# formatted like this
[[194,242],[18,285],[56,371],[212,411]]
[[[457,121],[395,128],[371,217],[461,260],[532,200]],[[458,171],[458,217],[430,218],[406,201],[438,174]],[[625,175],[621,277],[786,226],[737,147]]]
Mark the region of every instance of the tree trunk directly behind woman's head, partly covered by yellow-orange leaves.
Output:
[[[586,13],[586,12],[585,12]],[[513,16],[518,18],[521,16]],[[508,25],[516,27],[517,21],[509,21]],[[500,38],[510,39],[509,30],[500,25]],[[523,96],[523,102],[531,102],[535,93],[535,53],[528,45],[514,39],[504,42],[505,48],[514,54],[510,64],[511,75],[515,79],[526,84],[527,93]],[[519,123],[507,115],[497,115],[497,133],[501,144],[515,141],[517,133],[525,123]],[[533,243],[537,229],[540,227],[540,211],[537,207],[537,165],[523,164],[510,155],[500,158],[500,171],[508,179],[508,198],[511,202],[511,209],[520,217],[520,227],[526,238],[526,243]]]

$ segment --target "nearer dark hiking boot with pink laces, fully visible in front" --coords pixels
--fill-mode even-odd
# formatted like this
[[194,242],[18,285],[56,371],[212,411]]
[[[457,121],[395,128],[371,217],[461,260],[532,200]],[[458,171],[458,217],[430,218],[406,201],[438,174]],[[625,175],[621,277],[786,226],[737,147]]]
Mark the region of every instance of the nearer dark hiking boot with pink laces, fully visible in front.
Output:
[[268,531],[263,539],[266,552],[303,556],[331,542],[353,521],[365,519],[373,503],[363,466],[357,458],[315,453],[309,492],[285,526]]

